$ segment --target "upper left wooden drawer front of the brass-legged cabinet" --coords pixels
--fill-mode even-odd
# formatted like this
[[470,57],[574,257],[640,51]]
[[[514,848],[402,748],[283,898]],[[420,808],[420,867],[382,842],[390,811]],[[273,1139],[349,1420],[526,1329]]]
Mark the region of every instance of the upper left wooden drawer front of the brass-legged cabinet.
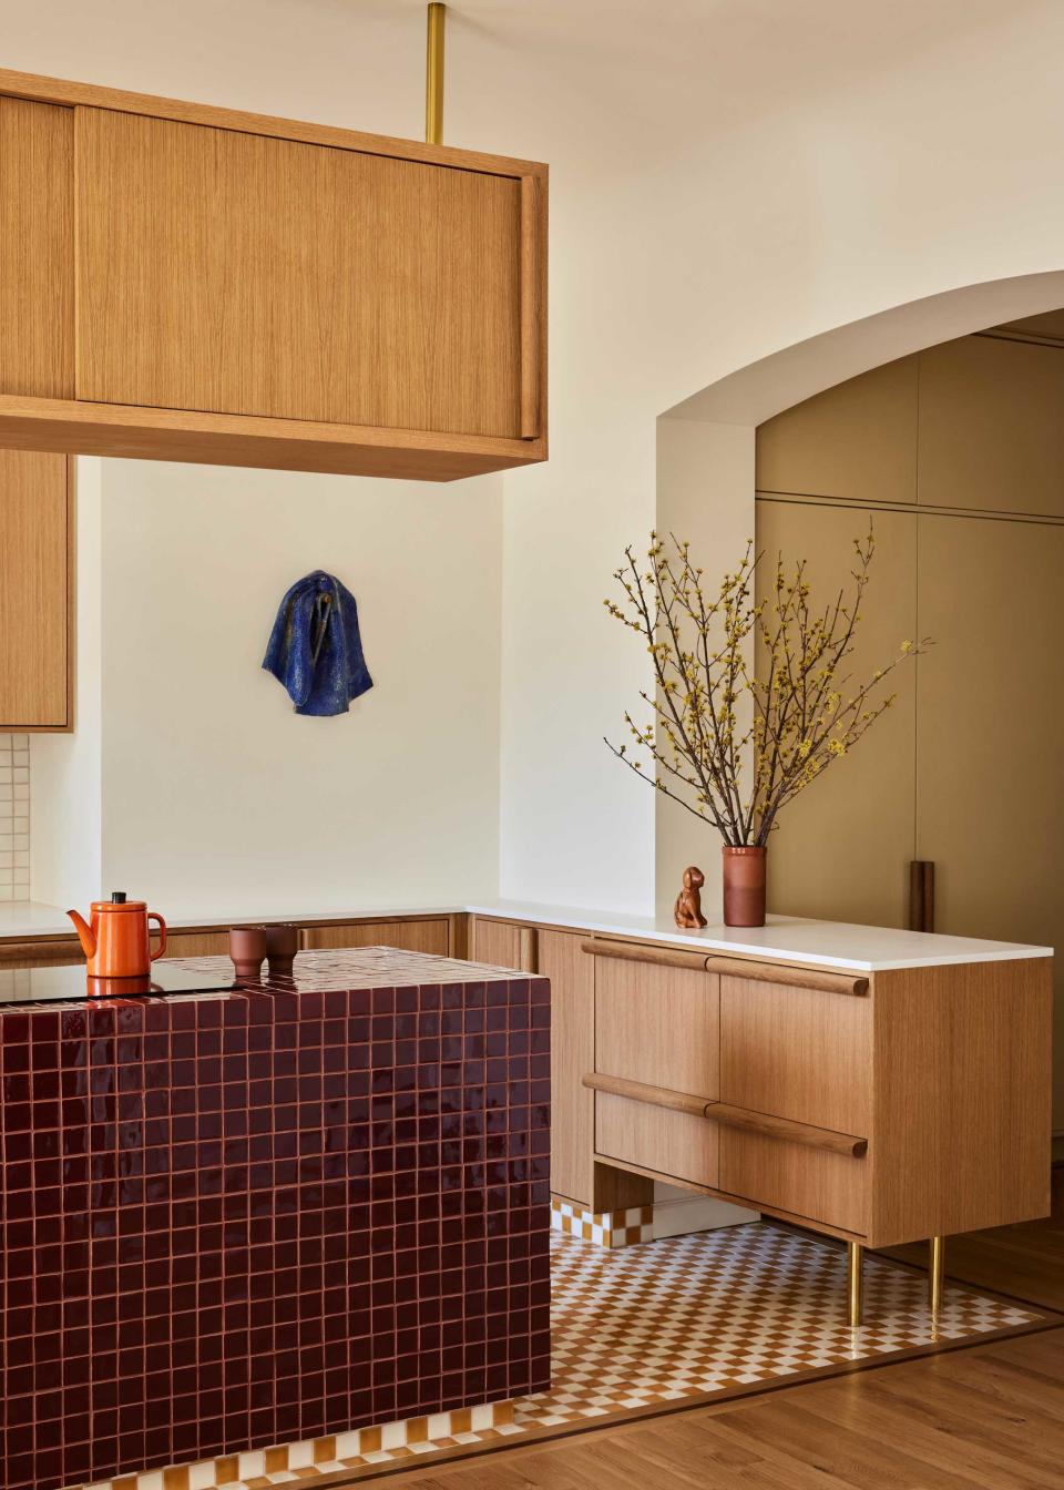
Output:
[[595,1070],[715,1098],[720,977],[687,967],[596,958]]

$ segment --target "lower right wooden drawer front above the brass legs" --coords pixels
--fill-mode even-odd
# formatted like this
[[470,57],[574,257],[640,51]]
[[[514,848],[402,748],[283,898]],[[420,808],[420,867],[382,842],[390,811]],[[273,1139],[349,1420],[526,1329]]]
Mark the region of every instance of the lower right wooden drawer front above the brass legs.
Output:
[[858,1237],[867,1232],[867,1158],[721,1126],[718,1173],[718,1189],[754,1207],[772,1205]]

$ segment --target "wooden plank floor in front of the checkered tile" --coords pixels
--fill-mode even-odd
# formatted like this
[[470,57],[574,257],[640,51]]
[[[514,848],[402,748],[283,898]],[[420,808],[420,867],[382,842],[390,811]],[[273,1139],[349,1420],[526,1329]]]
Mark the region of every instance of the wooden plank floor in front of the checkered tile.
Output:
[[[925,1249],[899,1255],[924,1261]],[[952,1238],[951,1277],[1064,1311],[1054,1216]],[[401,1490],[1064,1490],[1064,1328],[434,1469]]]

